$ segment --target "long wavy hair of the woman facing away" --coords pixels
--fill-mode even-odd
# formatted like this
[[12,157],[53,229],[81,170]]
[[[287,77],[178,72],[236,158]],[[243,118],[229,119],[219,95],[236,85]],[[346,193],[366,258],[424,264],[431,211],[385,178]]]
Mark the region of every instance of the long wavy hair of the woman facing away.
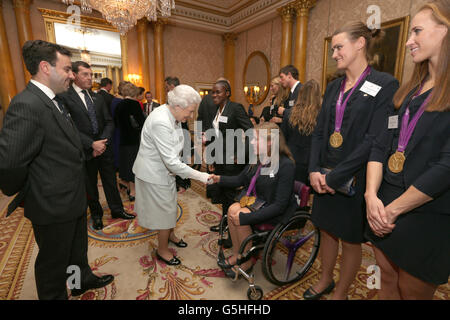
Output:
[[314,131],[321,107],[320,86],[315,80],[306,82],[298,92],[297,102],[292,109],[289,123],[298,126],[298,131],[309,136]]

